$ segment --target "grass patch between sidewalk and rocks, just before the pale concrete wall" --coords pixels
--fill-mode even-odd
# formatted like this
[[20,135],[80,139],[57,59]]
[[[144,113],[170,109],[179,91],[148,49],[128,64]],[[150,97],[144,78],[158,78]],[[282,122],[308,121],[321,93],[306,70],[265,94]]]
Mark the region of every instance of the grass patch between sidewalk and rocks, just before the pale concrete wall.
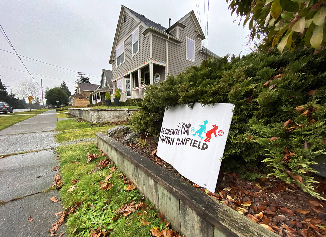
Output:
[[75,140],[80,138],[95,137],[98,132],[106,132],[106,130],[118,125],[100,126],[91,122],[75,122],[73,119],[57,122],[57,131],[62,131],[55,135],[57,142]]

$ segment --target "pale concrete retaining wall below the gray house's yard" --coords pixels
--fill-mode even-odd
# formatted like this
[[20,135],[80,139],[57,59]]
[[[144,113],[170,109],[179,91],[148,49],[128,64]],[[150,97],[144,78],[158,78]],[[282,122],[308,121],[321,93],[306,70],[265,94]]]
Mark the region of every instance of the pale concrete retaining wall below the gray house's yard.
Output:
[[130,118],[137,109],[89,109],[89,108],[69,108],[69,113],[82,117],[83,119],[93,122],[116,122]]

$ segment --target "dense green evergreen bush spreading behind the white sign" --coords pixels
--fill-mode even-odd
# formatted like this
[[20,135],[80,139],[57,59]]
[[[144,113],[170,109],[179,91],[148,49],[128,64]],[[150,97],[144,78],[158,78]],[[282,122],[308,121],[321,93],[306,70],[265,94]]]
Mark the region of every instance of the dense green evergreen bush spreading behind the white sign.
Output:
[[311,50],[204,60],[159,87],[148,86],[130,122],[137,132],[157,136],[166,107],[233,103],[223,169],[246,173],[258,167],[322,198],[310,174],[315,158],[326,154],[325,65],[326,51]]

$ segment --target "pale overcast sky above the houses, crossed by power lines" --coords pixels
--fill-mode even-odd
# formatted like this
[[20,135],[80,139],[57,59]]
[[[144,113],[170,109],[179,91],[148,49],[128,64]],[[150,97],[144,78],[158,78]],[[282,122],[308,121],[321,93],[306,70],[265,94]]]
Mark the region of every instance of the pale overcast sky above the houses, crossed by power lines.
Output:
[[[205,33],[204,22],[207,24],[208,0],[205,2],[198,0],[198,3],[197,8],[195,0],[2,0],[0,24],[18,54],[72,70],[68,71],[23,58],[24,64],[31,73],[42,75],[32,74],[39,83],[42,78],[43,88],[60,86],[62,81],[65,81],[74,94],[78,73],[73,71],[91,75],[88,76],[90,82],[99,84],[102,68],[111,70],[108,62],[122,4],[165,27],[169,26],[169,18],[173,24],[194,10]],[[200,18],[197,11],[200,13]],[[244,45],[247,42],[244,38],[249,30],[247,27],[244,29],[242,24],[239,26],[239,20],[233,23],[234,19],[235,15],[231,17],[225,0],[209,2],[207,37],[209,50],[220,56],[232,53],[238,55],[241,52],[244,54],[246,49]],[[205,41],[203,42],[206,44]],[[0,34],[0,49],[13,52],[2,34]],[[1,50],[0,78],[8,86],[9,91],[12,89],[17,94],[16,84],[31,77],[28,73],[5,68],[26,71],[17,55]]]

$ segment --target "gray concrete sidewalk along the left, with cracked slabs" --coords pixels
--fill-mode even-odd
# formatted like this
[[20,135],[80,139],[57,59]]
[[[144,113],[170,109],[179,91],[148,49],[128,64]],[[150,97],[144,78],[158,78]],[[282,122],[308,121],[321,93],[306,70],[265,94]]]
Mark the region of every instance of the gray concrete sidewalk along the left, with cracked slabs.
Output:
[[[61,212],[62,205],[50,200],[59,200],[59,191],[47,190],[58,172],[52,171],[58,166],[53,149],[59,145],[56,121],[50,110],[0,131],[0,156],[16,153],[0,159],[0,236],[49,236],[59,218],[54,213]],[[29,216],[34,220],[29,222]]]

